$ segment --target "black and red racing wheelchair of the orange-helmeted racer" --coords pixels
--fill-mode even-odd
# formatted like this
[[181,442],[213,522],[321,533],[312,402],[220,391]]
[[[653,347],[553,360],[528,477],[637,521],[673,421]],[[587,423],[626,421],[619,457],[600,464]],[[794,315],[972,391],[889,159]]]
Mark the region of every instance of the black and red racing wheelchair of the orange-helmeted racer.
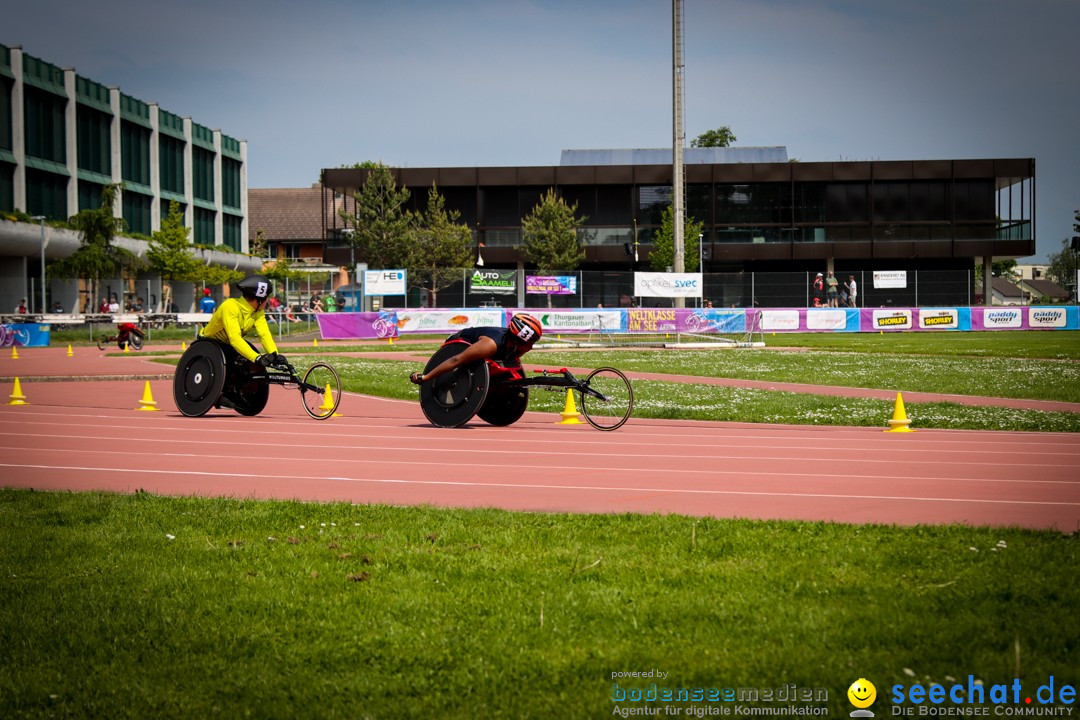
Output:
[[[424,372],[464,351],[469,343],[449,340],[440,348]],[[583,380],[566,368],[538,370],[526,378],[519,367],[503,367],[492,359],[477,361],[420,383],[420,409],[433,425],[460,427],[474,416],[490,425],[517,422],[529,405],[529,389],[570,389],[578,393],[581,415],[596,430],[617,430],[634,409],[634,390],[619,370],[602,367]]]

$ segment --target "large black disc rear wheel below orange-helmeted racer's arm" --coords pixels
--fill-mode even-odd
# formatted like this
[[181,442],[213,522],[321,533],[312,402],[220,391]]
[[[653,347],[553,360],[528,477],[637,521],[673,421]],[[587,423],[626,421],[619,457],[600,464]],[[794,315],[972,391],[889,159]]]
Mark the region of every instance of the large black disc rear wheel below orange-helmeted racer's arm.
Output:
[[[468,347],[467,342],[443,345],[431,356],[423,371],[430,372],[436,365],[463,352]],[[490,382],[487,363],[484,361],[457,367],[434,380],[420,383],[420,409],[433,425],[460,427],[483,407]]]

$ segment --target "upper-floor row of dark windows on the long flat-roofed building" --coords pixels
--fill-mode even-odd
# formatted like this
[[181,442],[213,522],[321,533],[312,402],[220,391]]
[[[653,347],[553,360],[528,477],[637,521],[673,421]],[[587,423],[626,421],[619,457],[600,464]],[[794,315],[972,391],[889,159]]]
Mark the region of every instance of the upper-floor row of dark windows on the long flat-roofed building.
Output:
[[[410,188],[411,209],[429,188]],[[519,226],[548,188],[440,188],[447,209],[475,227]],[[659,226],[672,203],[671,186],[563,186],[586,226]],[[967,222],[995,218],[991,180],[908,182],[762,182],[690,185],[687,216],[706,226],[812,222]]]

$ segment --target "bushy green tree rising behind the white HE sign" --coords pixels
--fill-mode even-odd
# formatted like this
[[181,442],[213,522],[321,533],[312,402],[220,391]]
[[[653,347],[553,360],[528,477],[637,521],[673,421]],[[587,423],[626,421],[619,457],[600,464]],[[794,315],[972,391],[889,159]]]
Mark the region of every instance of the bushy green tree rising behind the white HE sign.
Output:
[[353,245],[373,270],[401,268],[405,264],[415,219],[405,205],[407,188],[399,188],[386,165],[376,165],[354,193],[356,214],[345,209],[339,215],[352,233]]

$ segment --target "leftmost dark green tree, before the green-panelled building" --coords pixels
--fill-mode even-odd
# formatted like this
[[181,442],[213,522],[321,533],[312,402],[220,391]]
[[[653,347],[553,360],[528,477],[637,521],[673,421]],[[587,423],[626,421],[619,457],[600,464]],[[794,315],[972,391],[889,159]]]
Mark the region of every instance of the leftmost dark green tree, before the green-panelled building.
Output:
[[105,186],[102,189],[99,208],[81,210],[68,220],[79,233],[79,249],[67,258],[54,262],[50,269],[56,277],[89,281],[91,303],[97,297],[97,286],[102,277],[116,275],[125,268],[135,269],[141,262],[133,253],[112,244],[112,239],[127,227],[123,218],[112,214],[118,189],[118,185]]

